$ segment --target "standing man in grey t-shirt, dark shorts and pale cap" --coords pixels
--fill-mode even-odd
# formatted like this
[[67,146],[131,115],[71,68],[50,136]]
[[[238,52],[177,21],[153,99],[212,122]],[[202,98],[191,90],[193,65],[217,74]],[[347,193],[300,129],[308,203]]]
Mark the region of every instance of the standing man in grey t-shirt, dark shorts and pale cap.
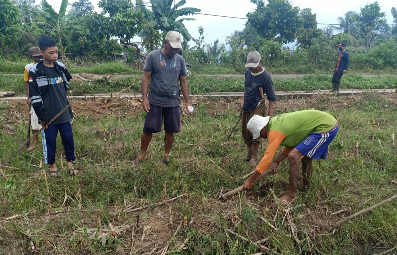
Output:
[[163,118],[166,131],[163,162],[168,165],[173,134],[181,130],[178,82],[181,84],[187,112],[192,113],[188,110],[190,103],[185,60],[177,54],[182,48],[181,42],[181,34],[170,31],[163,42],[164,48],[150,52],[146,58],[142,77],[142,107],[146,111],[146,117],[141,136],[141,154],[137,155],[134,165],[147,159],[146,150],[152,140],[152,133],[161,131]]

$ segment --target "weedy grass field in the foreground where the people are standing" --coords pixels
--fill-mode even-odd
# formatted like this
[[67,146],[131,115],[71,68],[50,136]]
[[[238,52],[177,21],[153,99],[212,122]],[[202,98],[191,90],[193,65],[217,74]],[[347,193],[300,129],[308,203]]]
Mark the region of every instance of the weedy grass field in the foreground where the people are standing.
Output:
[[[0,254],[159,254],[166,245],[173,254],[263,251],[228,229],[252,242],[265,239],[262,245],[271,251],[264,254],[372,254],[396,247],[396,201],[348,221],[335,234],[329,230],[340,219],[397,192],[391,182],[397,181],[396,147],[391,140],[391,134],[397,133],[395,93],[276,102],[276,114],[315,108],[330,112],[339,122],[328,159],[314,160],[309,190],[298,191],[294,206],[305,205],[287,210],[274,203],[287,190],[287,160],[278,174],[265,177],[248,192],[225,203],[215,198],[222,187],[225,192],[242,185],[243,177],[252,171],[244,161],[239,130],[226,141],[239,116],[241,99],[192,99],[195,114],[182,116],[170,167],[161,160],[163,132],[152,139],[150,160],[131,166],[139,151],[145,114],[135,99],[114,99],[120,106],[110,110],[100,108],[104,100],[71,101],[74,166],[80,174],[69,177],[65,169],[58,179],[47,175],[52,211],[63,213],[44,215],[49,206],[43,170],[48,167],[40,163],[40,149],[21,151],[3,168],[11,181],[0,185]],[[1,102],[2,162],[19,147],[15,139],[25,137],[27,118],[25,102]],[[58,139],[56,163],[62,169],[64,155]],[[260,155],[265,149],[266,142]],[[153,206],[163,201],[164,183],[168,198],[184,194],[171,204],[172,226],[169,204]],[[141,206],[148,207],[131,211]],[[332,215],[340,209],[346,211]],[[18,214],[22,216],[5,220]],[[260,221],[261,216],[277,231]],[[191,219],[188,229],[185,223]],[[178,252],[185,240],[186,250]]]

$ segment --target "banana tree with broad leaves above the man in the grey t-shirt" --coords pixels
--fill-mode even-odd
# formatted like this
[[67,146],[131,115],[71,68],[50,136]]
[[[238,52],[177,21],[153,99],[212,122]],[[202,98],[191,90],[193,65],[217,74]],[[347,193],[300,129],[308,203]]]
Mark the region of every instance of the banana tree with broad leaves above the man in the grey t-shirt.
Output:
[[[143,1],[137,1],[137,4],[143,3]],[[179,18],[180,16],[193,15],[194,12],[200,12],[197,8],[181,8],[179,7],[186,4],[186,0],[181,0],[175,6],[172,6],[173,0],[150,0],[152,4],[152,11],[150,12],[151,21],[148,23],[149,26],[153,26],[157,30],[162,30],[163,36],[170,30],[177,30],[185,40],[189,41],[192,39],[191,34],[187,31],[183,21],[196,20],[193,18]],[[143,6],[144,7],[144,6]],[[146,8],[145,8],[146,9]],[[147,9],[146,9],[147,10]],[[164,39],[164,38],[163,38]]]

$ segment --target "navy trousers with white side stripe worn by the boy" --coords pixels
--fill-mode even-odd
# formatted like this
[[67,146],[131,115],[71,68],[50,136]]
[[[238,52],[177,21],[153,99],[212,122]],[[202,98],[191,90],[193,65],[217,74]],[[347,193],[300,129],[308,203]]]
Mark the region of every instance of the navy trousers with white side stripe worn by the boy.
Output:
[[76,160],[72,126],[69,121],[61,124],[50,124],[47,129],[41,131],[45,164],[51,165],[55,163],[56,137],[58,136],[58,131],[64,145],[66,161],[71,162]]

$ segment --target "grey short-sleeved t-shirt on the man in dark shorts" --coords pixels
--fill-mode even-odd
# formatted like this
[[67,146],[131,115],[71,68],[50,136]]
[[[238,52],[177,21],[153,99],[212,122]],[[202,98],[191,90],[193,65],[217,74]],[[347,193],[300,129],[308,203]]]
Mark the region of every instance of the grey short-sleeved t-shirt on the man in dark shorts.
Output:
[[179,76],[186,76],[185,59],[168,57],[161,49],[151,51],[143,69],[151,71],[149,103],[161,107],[179,106]]

